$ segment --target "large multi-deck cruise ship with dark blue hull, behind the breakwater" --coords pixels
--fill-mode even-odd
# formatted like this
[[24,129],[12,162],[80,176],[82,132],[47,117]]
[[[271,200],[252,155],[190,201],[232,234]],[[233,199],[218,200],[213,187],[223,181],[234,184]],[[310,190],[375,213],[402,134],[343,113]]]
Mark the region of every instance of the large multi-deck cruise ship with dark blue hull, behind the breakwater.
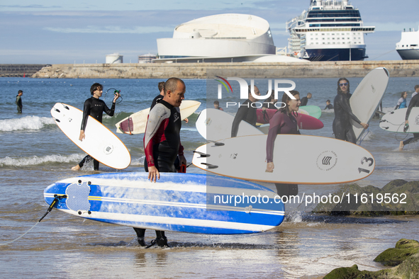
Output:
[[311,0],[308,11],[286,22],[289,51],[311,61],[356,61],[368,58],[361,14],[348,1]]

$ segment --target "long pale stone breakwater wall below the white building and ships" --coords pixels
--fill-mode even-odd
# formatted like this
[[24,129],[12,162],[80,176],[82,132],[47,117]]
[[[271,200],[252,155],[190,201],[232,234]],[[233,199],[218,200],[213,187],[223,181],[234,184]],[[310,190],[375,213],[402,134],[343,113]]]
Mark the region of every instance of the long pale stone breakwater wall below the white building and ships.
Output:
[[[53,64],[33,74],[51,79],[206,79],[207,71],[220,76],[247,78],[363,77],[385,67],[392,77],[419,77],[419,60],[301,62],[301,63],[171,63],[171,64]],[[245,76],[243,76],[245,75]],[[212,78],[212,77],[211,77]]]

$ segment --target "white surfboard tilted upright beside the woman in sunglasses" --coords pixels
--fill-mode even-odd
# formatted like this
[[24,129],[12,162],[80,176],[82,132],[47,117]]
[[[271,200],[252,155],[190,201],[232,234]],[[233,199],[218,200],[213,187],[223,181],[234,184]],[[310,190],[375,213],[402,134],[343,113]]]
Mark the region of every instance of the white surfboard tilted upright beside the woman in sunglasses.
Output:
[[[384,93],[389,84],[389,71],[386,68],[376,68],[367,74],[357,86],[352,97],[350,98],[350,106],[352,113],[362,123],[369,123],[378,108]],[[362,136],[364,128],[351,119],[357,140]]]

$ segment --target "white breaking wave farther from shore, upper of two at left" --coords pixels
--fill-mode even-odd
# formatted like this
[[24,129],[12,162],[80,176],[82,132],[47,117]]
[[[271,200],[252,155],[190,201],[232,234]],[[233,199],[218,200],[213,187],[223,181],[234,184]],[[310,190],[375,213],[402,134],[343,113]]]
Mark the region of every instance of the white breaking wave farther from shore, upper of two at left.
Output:
[[55,125],[54,119],[39,116],[26,116],[24,118],[0,120],[0,131],[41,130],[45,125]]

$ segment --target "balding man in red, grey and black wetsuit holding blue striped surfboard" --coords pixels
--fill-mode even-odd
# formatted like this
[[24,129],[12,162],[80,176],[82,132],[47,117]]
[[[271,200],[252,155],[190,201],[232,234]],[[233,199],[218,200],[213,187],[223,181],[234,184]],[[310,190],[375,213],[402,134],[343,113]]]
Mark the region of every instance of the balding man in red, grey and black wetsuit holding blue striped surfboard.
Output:
[[[160,172],[176,172],[174,161],[179,156],[180,165],[186,165],[184,147],[180,141],[181,118],[179,106],[184,100],[186,86],[177,78],[167,79],[164,84],[164,96],[148,115],[144,135],[145,162],[144,169],[148,179],[157,182]],[[145,244],[145,229],[134,228],[138,243]],[[156,230],[156,239],[152,244],[168,246],[163,231]]]

